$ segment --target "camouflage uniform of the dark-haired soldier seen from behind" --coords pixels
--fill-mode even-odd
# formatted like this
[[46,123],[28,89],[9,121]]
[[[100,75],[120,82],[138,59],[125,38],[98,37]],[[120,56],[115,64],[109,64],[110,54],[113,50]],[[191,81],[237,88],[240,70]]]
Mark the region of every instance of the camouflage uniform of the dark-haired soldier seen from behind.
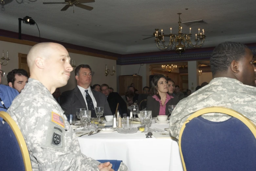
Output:
[[[170,116],[170,133],[179,139],[180,129],[194,112],[212,106],[233,109],[250,119],[256,125],[256,88],[244,85],[237,79],[218,77],[198,91],[181,100]],[[230,116],[222,113],[208,113],[203,118],[220,122]]]

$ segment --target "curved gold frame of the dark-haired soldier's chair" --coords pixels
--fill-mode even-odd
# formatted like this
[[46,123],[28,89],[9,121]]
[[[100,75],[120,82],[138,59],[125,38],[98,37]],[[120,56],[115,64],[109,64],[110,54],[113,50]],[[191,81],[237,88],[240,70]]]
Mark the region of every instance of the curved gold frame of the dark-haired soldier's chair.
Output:
[[241,122],[243,122],[250,129],[250,131],[253,133],[254,137],[256,138],[256,127],[255,127],[255,125],[248,118],[246,118],[242,114],[238,113],[237,111],[234,111],[232,109],[227,109],[227,108],[224,108],[224,107],[209,107],[209,108],[204,108],[204,109],[201,109],[199,111],[196,111],[195,113],[193,113],[191,116],[189,116],[187,118],[187,120],[185,121],[185,123],[183,124],[183,126],[181,127],[181,130],[180,130],[179,149],[180,149],[180,155],[181,155],[181,160],[182,160],[182,165],[183,165],[184,171],[187,171],[187,169],[186,169],[183,154],[182,154],[182,151],[181,151],[182,133],[183,133],[185,127],[186,127],[186,124],[189,121],[191,121],[193,118],[196,118],[198,116],[201,116],[201,115],[207,114],[207,113],[224,113],[224,114],[227,114],[229,116],[232,116],[232,117],[235,117],[235,118],[239,119]]

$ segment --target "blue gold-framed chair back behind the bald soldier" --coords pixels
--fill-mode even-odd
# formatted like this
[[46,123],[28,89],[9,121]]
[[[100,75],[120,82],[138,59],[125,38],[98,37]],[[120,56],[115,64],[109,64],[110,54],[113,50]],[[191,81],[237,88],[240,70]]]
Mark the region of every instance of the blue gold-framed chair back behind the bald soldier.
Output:
[[0,111],[0,170],[32,171],[24,137],[10,115]]

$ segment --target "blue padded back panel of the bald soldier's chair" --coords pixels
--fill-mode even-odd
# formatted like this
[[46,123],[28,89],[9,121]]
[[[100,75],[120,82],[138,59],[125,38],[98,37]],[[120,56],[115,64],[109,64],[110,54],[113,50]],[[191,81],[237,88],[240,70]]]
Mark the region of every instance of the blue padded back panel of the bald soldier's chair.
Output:
[[17,139],[7,122],[0,122],[0,170],[25,171]]

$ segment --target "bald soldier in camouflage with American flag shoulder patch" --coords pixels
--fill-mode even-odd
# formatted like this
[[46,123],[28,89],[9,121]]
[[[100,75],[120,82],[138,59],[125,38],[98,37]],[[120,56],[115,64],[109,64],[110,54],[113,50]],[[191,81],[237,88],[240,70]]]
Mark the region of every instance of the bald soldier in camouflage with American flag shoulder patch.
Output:
[[[27,57],[29,83],[7,111],[17,123],[30,153],[33,171],[113,171],[81,153],[78,140],[64,111],[52,93],[67,84],[72,67],[64,46],[39,43]],[[127,170],[121,163],[119,170]]]

